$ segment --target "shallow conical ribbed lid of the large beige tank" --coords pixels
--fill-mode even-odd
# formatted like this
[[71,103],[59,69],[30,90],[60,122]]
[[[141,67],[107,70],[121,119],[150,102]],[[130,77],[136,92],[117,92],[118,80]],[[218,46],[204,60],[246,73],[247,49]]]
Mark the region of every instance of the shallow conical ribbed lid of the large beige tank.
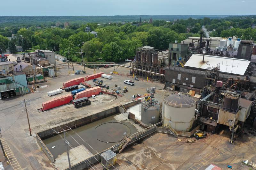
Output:
[[164,103],[172,107],[192,107],[196,104],[196,98],[184,94],[171,94],[163,99]]

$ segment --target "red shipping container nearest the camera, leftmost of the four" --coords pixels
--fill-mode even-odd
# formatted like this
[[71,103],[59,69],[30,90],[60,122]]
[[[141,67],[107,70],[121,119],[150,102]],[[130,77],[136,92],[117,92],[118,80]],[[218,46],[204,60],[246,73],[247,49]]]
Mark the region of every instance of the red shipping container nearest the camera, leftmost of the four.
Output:
[[43,110],[49,110],[49,109],[54,108],[54,107],[62,106],[62,105],[70,103],[71,100],[73,100],[73,95],[72,94],[56,97],[52,100],[43,102],[42,103],[42,107],[43,107],[42,109]]

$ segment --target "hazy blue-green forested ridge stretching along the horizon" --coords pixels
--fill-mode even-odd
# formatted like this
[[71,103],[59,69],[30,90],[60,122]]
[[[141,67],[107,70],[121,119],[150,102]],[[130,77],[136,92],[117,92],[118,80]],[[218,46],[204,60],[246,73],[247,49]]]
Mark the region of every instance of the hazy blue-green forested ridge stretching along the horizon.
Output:
[[0,16],[0,27],[55,26],[56,22],[69,22],[71,24],[86,24],[90,22],[97,22],[99,24],[118,23],[139,21],[140,17],[142,21],[148,21],[150,18],[153,20],[173,21],[174,19],[188,19],[190,17],[194,19],[202,19],[204,17],[214,19],[227,16],[228,15]]

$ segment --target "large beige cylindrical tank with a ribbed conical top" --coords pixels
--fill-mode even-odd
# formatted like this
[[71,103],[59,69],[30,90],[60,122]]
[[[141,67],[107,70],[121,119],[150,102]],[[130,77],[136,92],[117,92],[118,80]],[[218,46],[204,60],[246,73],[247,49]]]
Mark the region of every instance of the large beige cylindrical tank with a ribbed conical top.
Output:
[[171,94],[163,98],[163,121],[175,130],[190,131],[194,122],[196,98]]

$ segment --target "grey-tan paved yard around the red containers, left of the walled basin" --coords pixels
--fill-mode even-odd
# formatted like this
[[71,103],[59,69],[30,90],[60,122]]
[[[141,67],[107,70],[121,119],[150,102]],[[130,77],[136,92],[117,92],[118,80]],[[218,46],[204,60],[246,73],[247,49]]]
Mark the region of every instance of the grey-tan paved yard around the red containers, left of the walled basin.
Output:
[[[61,62],[59,62],[61,63]],[[72,67],[70,67],[72,69]],[[74,66],[75,70],[83,70],[82,66]],[[108,73],[113,71],[113,67],[107,69],[96,69],[96,72],[103,71]],[[126,75],[129,69],[118,68],[120,74]],[[48,87],[38,88],[38,92],[22,95],[16,98],[0,101],[0,125],[2,136],[5,138],[13,155],[18,161],[22,169],[53,169],[52,164],[45,154],[41,151],[36,143],[35,133],[49,129],[49,126],[57,126],[74,119],[79,119],[85,115],[91,115],[101,110],[110,107],[118,106],[120,103],[131,101],[133,94],[143,94],[146,88],[155,86],[163,89],[164,85],[157,82],[136,81],[134,86],[128,86],[128,92],[124,97],[116,100],[109,95],[97,96],[92,105],[75,109],[72,105],[57,107],[46,112],[39,113],[38,108],[42,107],[42,102],[50,100],[53,97],[47,96],[47,92],[62,87],[62,83],[76,77],[84,77],[93,74],[93,69],[86,68],[86,74],[68,75],[68,67],[61,66],[57,71],[58,77],[46,78],[46,82],[37,85]],[[122,75],[113,75],[112,80],[103,79],[104,83],[109,85],[109,88],[115,88],[115,84],[124,86],[124,80],[131,79]],[[93,85],[92,81],[89,84]],[[66,92],[64,92],[65,94]],[[163,91],[157,90],[156,98],[161,99]],[[58,94],[61,96],[63,94]],[[20,104],[23,99],[28,100],[28,113],[30,118],[30,126],[32,136],[29,136],[28,122],[24,106]],[[12,169],[12,166],[7,166],[6,169]]]

